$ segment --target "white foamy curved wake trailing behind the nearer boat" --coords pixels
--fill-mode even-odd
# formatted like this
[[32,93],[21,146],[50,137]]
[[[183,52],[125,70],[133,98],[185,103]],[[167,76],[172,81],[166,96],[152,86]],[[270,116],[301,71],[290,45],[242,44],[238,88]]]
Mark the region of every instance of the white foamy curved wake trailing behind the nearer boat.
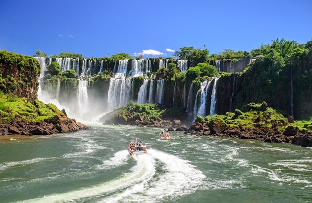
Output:
[[[132,159],[126,150],[103,162],[114,169]],[[188,161],[158,150],[134,156],[135,165],[117,178],[63,194],[52,194],[23,202],[160,202],[193,193],[206,176]]]

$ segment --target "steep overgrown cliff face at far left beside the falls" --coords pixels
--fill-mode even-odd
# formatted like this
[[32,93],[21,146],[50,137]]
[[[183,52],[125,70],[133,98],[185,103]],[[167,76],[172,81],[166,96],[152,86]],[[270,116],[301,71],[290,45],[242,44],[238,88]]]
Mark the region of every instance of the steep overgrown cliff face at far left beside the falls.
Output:
[[40,66],[37,60],[0,51],[0,90],[34,100],[37,97]]

